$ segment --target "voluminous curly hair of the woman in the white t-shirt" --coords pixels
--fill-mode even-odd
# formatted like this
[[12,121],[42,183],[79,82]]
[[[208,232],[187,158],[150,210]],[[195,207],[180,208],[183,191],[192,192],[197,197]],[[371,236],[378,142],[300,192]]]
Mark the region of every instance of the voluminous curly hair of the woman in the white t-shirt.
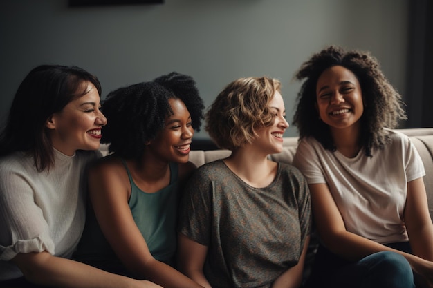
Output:
[[329,126],[319,119],[319,112],[315,109],[317,79],[332,66],[351,70],[360,82],[365,105],[360,119],[361,144],[365,155],[371,157],[372,148],[382,149],[389,142],[387,131],[383,128],[396,128],[398,120],[407,118],[400,94],[389,84],[377,59],[369,52],[329,46],[304,62],[295,75],[297,80],[306,80],[297,95],[293,124],[298,128],[300,140],[315,137],[324,148],[335,151]]

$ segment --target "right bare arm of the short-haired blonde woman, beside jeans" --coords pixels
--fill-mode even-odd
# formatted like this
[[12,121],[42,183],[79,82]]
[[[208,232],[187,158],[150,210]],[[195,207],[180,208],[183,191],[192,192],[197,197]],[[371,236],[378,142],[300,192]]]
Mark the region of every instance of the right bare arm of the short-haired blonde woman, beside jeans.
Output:
[[291,267],[286,272],[282,273],[275,282],[273,282],[272,288],[297,288],[300,287],[302,282],[302,272],[304,271],[304,264],[306,258],[306,251],[308,250],[308,243],[310,242],[310,236],[308,236],[304,243],[304,248],[300,256],[297,265]]

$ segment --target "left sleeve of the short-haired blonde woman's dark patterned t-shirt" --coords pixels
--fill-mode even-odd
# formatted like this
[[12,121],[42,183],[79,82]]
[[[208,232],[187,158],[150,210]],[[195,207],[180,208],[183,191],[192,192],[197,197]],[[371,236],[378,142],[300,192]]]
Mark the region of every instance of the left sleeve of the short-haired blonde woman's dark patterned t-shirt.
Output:
[[209,246],[212,181],[199,167],[187,182],[181,207],[179,207],[178,231],[199,244]]

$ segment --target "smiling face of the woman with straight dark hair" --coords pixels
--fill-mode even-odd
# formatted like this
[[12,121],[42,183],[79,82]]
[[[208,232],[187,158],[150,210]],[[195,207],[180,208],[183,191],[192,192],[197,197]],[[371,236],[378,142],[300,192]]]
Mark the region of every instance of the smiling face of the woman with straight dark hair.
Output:
[[96,150],[107,119],[100,111],[100,95],[90,82],[82,97],[72,100],[46,122],[54,148],[65,155],[77,150]]

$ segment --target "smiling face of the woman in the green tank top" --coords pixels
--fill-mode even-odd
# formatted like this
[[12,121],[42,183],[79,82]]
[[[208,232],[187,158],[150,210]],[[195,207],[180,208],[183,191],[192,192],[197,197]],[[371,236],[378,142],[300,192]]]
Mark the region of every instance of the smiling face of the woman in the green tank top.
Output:
[[181,99],[169,99],[173,115],[165,119],[162,131],[151,140],[149,152],[165,162],[186,163],[194,135],[191,115]]

